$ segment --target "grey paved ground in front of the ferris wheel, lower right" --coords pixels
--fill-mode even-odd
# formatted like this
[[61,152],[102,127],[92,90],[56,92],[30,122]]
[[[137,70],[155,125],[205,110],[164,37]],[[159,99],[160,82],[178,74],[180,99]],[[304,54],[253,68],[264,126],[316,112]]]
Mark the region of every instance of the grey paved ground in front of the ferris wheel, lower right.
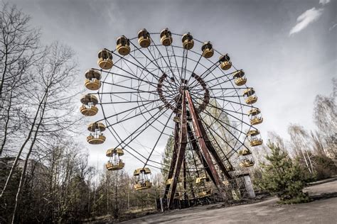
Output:
[[188,208],[147,215],[124,223],[337,223],[337,181],[306,189],[316,201],[278,205],[273,197],[260,203],[209,209]]

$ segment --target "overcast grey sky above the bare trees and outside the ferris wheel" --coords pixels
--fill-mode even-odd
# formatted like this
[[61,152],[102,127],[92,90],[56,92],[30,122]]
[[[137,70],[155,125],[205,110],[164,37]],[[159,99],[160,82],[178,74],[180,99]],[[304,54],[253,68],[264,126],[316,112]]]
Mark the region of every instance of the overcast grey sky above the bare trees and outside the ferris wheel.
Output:
[[[314,129],[315,96],[331,94],[331,79],[337,77],[337,1],[10,2],[31,15],[43,43],[60,40],[73,47],[80,84],[85,70],[97,67],[98,50],[113,49],[119,35],[131,38],[141,28],[154,33],[168,27],[173,33],[190,31],[197,39],[211,40],[217,50],[230,53],[236,67],[245,69],[257,91],[264,139],[267,131],[288,138],[289,123]],[[106,147],[90,147],[91,161],[106,160]]]

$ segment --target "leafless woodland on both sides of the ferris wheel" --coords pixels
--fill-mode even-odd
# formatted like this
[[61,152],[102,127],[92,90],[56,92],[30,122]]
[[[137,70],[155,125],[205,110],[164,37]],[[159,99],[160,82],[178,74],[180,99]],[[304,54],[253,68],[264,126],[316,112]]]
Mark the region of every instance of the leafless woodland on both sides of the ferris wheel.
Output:
[[[0,223],[79,223],[155,210],[161,174],[148,191],[135,191],[132,176],[92,167],[85,147],[75,143],[82,121],[74,107],[80,92],[71,47],[43,45],[30,16],[11,4],[1,6],[0,26]],[[336,92],[317,96],[316,131],[289,125],[289,142],[276,133],[270,140],[299,159],[312,179],[330,177],[336,174],[336,117]],[[252,152],[260,161],[268,150]]]

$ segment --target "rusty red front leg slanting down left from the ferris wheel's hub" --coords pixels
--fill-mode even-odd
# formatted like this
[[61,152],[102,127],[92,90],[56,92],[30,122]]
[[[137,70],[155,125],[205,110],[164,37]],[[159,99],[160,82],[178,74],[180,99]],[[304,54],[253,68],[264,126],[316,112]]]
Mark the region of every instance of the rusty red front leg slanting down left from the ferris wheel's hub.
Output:
[[183,159],[185,157],[185,150],[187,145],[187,116],[186,116],[186,92],[183,92],[183,99],[181,103],[181,123],[179,130],[179,145],[178,145],[178,153],[176,164],[173,169],[171,186],[169,189],[169,208],[173,207],[174,195],[176,194],[176,186],[178,183],[178,177],[181,170],[181,165],[183,163]]

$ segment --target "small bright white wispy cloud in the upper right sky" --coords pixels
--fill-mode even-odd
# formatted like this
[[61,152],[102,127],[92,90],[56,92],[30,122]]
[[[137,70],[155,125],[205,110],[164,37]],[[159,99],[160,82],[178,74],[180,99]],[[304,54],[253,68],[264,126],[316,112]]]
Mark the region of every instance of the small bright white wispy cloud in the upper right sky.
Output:
[[[324,1],[324,0],[321,0]],[[328,1],[328,0],[325,0]],[[315,7],[312,9],[308,9],[304,13],[302,13],[298,18],[297,18],[297,23],[296,25],[291,28],[289,35],[292,35],[294,33],[299,33],[299,31],[303,30],[306,28],[310,23],[313,23],[319,17],[321,17],[323,13],[323,9],[316,9]]]

